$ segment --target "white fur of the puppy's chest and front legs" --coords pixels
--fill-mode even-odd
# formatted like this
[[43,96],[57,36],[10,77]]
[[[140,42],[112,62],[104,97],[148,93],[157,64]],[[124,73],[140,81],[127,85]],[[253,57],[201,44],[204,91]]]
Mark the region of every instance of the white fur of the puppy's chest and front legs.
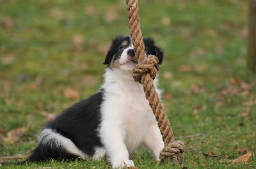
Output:
[[[159,160],[164,147],[155,116],[145,98],[143,87],[132,78],[132,70],[106,69],[102,123],[99,135],[113,168],[134,166],[129,152],[144,143]],[[154,85],[157,86],[157,78]],[[161,91],[156,89],[159,96]]]

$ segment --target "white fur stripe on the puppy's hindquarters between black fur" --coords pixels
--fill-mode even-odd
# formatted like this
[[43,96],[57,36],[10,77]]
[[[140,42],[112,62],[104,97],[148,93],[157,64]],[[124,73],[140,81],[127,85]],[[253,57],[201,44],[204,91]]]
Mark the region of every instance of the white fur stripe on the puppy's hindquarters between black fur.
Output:
[[70,139],[56,133],[54,129],[45,128],[40,135],[39,142],[42,144],[51,144],[51,146],[52,144],[55,144],[56,146],[64,147],[68,152],[76,154],[82,159],[88,158],[88,155],[80,151]]

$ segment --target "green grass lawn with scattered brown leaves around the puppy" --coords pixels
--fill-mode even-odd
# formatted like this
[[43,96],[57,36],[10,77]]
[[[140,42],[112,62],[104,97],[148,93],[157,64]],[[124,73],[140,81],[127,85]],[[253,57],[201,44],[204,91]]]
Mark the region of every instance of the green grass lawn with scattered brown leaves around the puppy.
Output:
[[[127,11],[125,1],[0,3],[0,156],[28,154],[51,115],[97,91],[111,38],[129,34]],[[256,76],[246,69],[247,1],[139,3],[143,36],[164,48],[159,70],[164,105],[186,152],[182,165],[159,164],[143,149],[131,159],[138,168],[256,168]],[[67,99],[68,89],[79,96]],[[253,154],[250,163],[230,163],[246,152]],[[105,160],[30,167],[111,168]]]

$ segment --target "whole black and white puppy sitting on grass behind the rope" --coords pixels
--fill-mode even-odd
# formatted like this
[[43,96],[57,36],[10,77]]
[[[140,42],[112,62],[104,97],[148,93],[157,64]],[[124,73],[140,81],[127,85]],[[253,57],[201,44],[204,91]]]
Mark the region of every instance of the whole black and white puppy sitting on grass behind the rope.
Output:
[[[144,43],[146,54],[156,55],[161,64],[161,48],[152,38],[145,38]],[[104,64],[108,67],[99,92],[67,108],[47,124],[38,146],[26,159],[28,163],[107,157],[113,168],[134,166],[129,152],[141,144],[159,160],[164,143],[143,87],[132,78],[137,62],[130,36],[118,36],[112,41]],[[156,78],[155,86],[157,81]],[[161,90],[157,92],[161,95]]]

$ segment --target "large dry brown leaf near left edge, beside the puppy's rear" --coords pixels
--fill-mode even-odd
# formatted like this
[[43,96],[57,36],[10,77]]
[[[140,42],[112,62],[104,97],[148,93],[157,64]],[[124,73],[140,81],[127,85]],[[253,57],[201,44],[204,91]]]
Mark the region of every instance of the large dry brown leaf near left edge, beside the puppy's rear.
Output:
[[10,131],[8,131],[5,138],[3,138],[4,142],[8,143],[15,143],[19,141],[20,136],[22,136],[24,133],[28,131],[28,128],[15,128]]

